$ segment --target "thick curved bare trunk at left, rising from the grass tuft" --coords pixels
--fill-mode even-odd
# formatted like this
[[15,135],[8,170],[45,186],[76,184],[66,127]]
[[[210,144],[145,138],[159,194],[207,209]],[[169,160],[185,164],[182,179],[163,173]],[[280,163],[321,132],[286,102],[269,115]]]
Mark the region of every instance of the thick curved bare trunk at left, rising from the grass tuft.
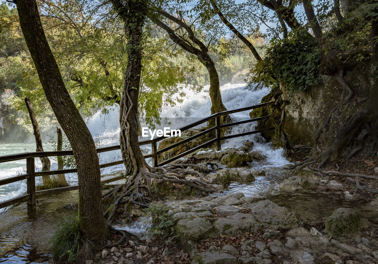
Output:
[[55,116],[72,146],[79,179],[79,226],[91,239],[106,238],[100,166],[95,142],[65,88],[40,21],[36,0],[15,0],[26,45]]

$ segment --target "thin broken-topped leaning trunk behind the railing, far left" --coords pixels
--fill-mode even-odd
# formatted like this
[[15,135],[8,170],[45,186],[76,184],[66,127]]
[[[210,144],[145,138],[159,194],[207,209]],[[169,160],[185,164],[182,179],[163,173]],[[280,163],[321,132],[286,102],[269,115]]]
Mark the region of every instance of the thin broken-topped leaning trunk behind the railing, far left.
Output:
[[[37,118],[36,118],[36,115],[34,114],[34,109],[33,109],[33,106],[31,104],[29,97],[25,97],[25,104],[29,112],[31,124],[33,126],[33,135],[34,135],[34,138],[36,139],[36,152],[43,152],[43,144],[42,144],[41,134],[39,132]],[[50,158],[40,157],[39,159],[42,162],[42,171],[50,171],[50,166],[51,166]],[[43,182],[43,185],[45,186],[49,185],[51,183],[50,175],[42,176],[42,182]]]

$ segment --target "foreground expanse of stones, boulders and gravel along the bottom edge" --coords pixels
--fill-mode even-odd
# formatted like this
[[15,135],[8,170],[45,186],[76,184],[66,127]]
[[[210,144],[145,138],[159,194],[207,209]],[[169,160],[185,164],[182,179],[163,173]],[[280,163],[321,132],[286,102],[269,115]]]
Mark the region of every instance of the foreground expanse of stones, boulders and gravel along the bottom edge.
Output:
[[[103,250],[95,263],[377,263],[378,231],[339,208],[325,229],[302,227],[287,208],[233,193],[166,205],[177,244],[159,238]],[[180,247],[178,247],[180,246]],[[182,250],[181,250],[182,249]]]

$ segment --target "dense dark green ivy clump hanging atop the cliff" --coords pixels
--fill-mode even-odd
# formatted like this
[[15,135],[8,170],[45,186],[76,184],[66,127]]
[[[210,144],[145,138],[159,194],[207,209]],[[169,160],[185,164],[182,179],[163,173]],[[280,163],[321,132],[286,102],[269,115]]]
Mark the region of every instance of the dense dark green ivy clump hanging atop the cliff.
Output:
[[290,92],[306,90],[318,83],[321,56],[316,43],[306,37],[283,40],[266,48],[265,57],[249,72],[253,82],[274,88],[283,83]]

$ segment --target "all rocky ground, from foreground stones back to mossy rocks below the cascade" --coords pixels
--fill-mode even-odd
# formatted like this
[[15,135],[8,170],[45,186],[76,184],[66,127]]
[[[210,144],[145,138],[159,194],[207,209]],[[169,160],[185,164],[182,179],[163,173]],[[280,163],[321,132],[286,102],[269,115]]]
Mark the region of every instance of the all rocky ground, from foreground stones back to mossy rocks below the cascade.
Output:
[[[255,177],[265,176],[265,171],[241,167],[265,158],[251,148],[252,144],[247,143],[238,149],[206,149],[195,157],[201,162],[226,165],[205,176],[221,192],[233,181],[253,182]],[[335,175],[321,177],[307,169],[285,179],[279,189],[286,193],[339,195],[347,201],[363,199],[378,206],[376,195],[367,194],[344,179]],[[375,185],[376,180],[371,184]],[[139,241],[144,245],[129,240],[103,249],[87,264],[378,263],[378,230],[352,208],[339,208],[325,222],[312,223],[297,219],[290,210],[271,200],[245,197],[242,193],[169,202],[162,207],[160,215],[164,221],[171,221],[169,228],[176,235],[173,241],[167,242],[161,235]],[[118,237],[113,239],[117,241]]]

